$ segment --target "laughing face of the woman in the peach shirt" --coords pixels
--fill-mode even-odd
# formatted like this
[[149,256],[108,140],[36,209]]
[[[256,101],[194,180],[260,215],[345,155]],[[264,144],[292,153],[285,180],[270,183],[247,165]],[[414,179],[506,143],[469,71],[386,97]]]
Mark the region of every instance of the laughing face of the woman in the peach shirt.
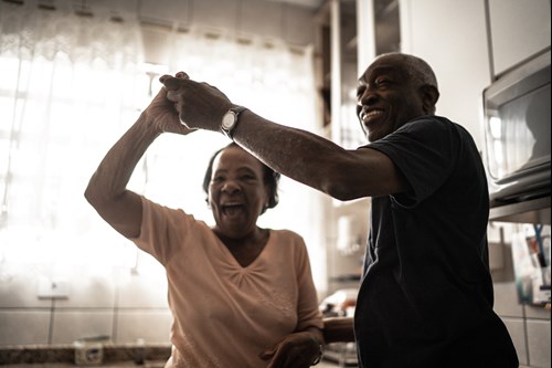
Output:
[[243,238],[256,229],[268,203],[263,166],[240,147],[227,147],[213,161],[209,204],[215,229],[229,238]]

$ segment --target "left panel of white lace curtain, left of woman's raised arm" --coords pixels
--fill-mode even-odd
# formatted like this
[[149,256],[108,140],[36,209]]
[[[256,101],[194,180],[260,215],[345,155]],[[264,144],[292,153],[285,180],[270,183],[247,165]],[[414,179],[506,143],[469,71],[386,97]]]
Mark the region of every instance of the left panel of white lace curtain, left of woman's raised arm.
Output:
[[94,262],[114,234],[83,192],[147,93],[139,24],[0,1],[0,260]]

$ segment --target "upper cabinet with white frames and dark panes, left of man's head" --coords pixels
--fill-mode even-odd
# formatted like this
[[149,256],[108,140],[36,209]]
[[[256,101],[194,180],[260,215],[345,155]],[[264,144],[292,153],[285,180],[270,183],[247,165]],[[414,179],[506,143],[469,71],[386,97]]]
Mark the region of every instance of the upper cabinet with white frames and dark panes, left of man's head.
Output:
[[372,59],[400,50],[399,0],[328,0],[317,17],[317,82],[328,138],[367,144],[357,118],[357,86]]

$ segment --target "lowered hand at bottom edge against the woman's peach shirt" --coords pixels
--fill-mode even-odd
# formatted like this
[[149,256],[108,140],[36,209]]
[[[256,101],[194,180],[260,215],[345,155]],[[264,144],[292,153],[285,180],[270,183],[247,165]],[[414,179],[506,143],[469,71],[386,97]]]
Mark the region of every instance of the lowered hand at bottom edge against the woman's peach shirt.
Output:
[[320,356],[319,336],[311,332],[300,332],[285,336],[263,351],[259,357],[270,360],[267,368],[308,368]]

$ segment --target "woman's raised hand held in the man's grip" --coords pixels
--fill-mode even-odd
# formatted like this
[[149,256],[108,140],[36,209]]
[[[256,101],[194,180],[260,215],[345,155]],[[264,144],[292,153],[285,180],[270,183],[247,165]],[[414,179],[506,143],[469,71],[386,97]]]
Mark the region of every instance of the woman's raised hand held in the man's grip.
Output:
[[[161,77],[163,78],[163,76]],[[160,81],[162,82],[162,80]],[[177,78],[188,78],[184,73],[177,74]],[[188,134],[192,132],[188,127],[180,124],[178,111],[174,104],[167,99],[167,88],[163,86],[158,92],[157,96],[151,101],[148,107],[144,111],[144,116],[147,122],[151,122],[160,133],[178,133]]]

